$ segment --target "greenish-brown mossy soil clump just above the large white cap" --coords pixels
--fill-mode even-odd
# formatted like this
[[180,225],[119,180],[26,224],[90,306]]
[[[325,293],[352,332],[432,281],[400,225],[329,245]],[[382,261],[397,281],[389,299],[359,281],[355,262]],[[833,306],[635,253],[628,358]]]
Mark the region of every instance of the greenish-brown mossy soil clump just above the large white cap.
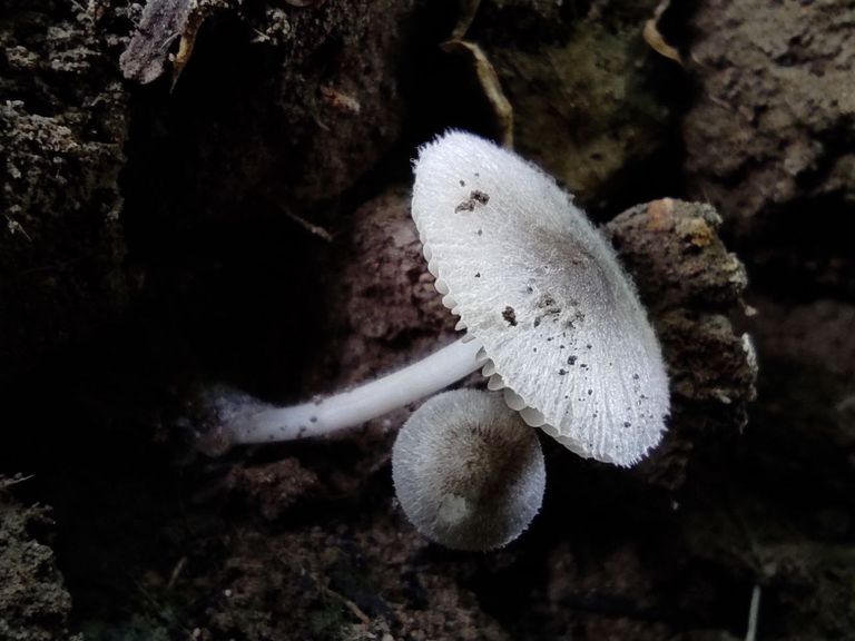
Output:
[[[662,142],[666,107],[643,87],[640,36],[586,21],[562,46],[498,50],[515,110],[515,139],[582,198]],[[532,91],[535,87],[538,90]]]

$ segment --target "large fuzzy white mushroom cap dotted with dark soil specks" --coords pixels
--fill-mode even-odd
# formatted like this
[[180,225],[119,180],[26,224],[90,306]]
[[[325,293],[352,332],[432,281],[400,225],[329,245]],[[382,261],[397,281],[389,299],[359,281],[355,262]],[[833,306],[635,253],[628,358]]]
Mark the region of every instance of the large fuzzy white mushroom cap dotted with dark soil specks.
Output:
[[489,387],[583,457],[632,465],[669,413],[661,351],[611,246],[534,165],[476,136],[423,146],[412,214]]

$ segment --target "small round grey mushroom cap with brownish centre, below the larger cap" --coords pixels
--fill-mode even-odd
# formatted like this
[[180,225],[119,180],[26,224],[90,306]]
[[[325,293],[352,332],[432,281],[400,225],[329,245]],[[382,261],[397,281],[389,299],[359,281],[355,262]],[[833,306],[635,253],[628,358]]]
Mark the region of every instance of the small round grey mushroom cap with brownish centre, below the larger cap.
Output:
[[534,430],[498,394],[473,389],[439,394],[413,413],[392,450],[392,479],[413,525],[455,550],[513,541],[547,482]]

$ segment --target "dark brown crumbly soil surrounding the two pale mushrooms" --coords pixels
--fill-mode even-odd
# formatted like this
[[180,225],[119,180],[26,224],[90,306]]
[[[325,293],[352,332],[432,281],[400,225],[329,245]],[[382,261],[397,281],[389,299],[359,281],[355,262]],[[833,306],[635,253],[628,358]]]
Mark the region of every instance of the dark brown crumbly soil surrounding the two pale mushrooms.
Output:
[[[731,640],[758,594],[756,639],[855,639],[855,3],[657,6],[3,3],[0,638]],[[200,453],[200,386],[287,403],[453,339],[410,159],[509,124],[637,285],[664,443],[543,435],[485,553],[396,504],[413,407]]]

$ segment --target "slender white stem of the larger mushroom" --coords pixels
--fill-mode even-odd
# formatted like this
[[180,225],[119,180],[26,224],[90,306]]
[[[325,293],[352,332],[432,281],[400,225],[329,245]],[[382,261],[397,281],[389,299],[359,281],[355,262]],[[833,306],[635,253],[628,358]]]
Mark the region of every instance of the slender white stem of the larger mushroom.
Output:
[[293,441],[353,427],[439,392],[481,367],[481,343],[461,338],[376,381],[318,401],[273,407],[249,406],[229,416],[233,444]]

